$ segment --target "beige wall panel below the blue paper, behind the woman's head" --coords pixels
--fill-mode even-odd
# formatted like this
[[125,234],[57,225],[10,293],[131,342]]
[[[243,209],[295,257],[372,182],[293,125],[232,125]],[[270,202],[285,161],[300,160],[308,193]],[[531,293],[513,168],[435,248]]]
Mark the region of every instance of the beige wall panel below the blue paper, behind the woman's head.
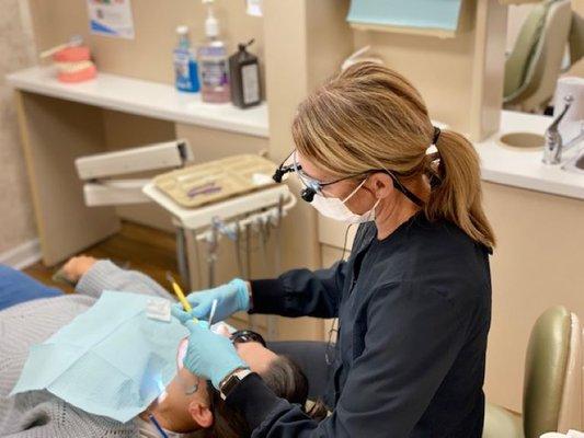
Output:
[[499,127],[505,20],[497,0],[468,0],[454,38],[353,31],[353,43],[410,79],[434,119],[479,140]]

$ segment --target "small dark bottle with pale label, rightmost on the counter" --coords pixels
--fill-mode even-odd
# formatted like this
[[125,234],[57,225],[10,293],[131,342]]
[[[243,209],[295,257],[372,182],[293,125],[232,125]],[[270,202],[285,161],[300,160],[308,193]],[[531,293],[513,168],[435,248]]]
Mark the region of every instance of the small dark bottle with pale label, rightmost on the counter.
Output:
[[239,50],[229,57],[231,102],[240,108],[247,108],[262,102],[257,57],[247,50],[251,44],[253,44],[253,39],[248,44],[239,44]]

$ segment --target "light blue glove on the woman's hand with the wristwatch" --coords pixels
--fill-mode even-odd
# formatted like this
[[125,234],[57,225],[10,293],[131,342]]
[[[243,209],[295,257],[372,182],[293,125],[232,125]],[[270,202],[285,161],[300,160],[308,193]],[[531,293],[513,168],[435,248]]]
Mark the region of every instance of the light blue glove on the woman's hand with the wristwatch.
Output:
[[208,378],[219,389],[219,383],[237,368],[250,368],[241,359],[227,337],[217,335],[201,323],[187,320],[188,348],[183,365],[192,373]]

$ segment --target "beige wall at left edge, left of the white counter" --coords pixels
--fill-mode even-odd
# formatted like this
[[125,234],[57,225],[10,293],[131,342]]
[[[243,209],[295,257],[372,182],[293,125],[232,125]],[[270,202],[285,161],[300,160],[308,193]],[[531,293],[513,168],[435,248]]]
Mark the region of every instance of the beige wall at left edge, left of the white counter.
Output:
[[12,90],[4,76],[35,62],[25,0],[2,0],[0,13],[0,253],[36,235]]

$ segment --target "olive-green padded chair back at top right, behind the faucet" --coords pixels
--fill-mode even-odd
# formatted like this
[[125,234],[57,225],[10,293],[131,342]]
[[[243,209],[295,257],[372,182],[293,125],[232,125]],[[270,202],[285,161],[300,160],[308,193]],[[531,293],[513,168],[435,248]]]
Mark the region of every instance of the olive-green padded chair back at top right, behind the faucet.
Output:
[[505,62],[505,108],[546,108],[561,72],[572,15],[570,0],[545,0],[529,13]]

